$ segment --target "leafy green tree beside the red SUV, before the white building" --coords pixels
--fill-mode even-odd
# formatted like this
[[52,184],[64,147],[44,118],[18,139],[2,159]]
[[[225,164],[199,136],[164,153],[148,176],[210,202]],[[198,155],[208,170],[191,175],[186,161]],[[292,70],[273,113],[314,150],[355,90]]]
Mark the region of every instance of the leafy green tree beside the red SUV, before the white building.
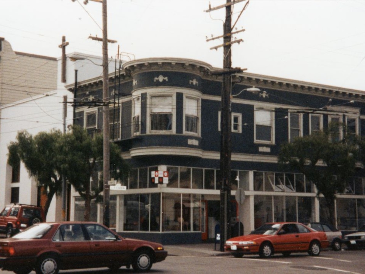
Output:
[[18,132],[16,141],[8,145],[8,164],[18,168],[20,160],[31,176],[43,186],[47,200],[44,206],[45,217],[52,198],[62,190],[62,169],[60,151],[57,145],[62,136],[61,131],[51,130],[32,136],[27,131]]

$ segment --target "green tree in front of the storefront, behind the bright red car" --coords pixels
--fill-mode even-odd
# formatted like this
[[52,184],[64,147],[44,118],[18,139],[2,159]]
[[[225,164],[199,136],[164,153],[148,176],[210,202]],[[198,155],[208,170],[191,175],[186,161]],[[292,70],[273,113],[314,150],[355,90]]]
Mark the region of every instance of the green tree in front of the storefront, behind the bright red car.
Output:
[[334,227],[336,193],[343,193],[353,176],[357,156],[357,146],[349,138],[335,141],[335,128],[332,125],[327,131],[297,137],[281,145],[278,154],[284,168],[301,172],[316,186],[317,196],[323,194]]

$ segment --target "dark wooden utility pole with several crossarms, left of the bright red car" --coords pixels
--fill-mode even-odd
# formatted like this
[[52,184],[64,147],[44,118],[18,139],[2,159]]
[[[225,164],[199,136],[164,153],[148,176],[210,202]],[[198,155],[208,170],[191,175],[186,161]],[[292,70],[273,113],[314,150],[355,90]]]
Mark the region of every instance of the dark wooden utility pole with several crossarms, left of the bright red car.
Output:
[[[222,75],[222,92],[221,92],[221,116],[220,116],[220,174],[222,182],[220,188],[220,251],[224,251],[224,243],[230,238],[230,194],[231,194],[231,78],[233,73],[242,72],[240,68],[232,68],[232,44],[240,43],[243,40],[232,41],[232,5],[245,0],[226,0],[226,4],[215,8],[209,7],[206,12],[214,11],[220,8],[226,8],[226,19],[223,24],[223,35],[207,39],[211,41],[217,38],[223,38],[223,44],[212,47],[218,49],[223,47],[223,71],[215,74]],[[241,12],[242,13],[242,12]],[[241,30],[244,31],[244,30]],[[236,31],[235,33],[241,32]]]

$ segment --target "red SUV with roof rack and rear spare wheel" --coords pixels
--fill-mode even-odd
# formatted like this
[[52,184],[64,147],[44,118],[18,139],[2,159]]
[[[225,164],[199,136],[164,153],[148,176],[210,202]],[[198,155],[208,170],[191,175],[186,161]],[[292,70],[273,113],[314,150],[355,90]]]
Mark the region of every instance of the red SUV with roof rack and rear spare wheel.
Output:
[[0,213],[0,233],[9,238],[12,235],[45,220],[43,209],[34,205],[14,203],[7,205]]

